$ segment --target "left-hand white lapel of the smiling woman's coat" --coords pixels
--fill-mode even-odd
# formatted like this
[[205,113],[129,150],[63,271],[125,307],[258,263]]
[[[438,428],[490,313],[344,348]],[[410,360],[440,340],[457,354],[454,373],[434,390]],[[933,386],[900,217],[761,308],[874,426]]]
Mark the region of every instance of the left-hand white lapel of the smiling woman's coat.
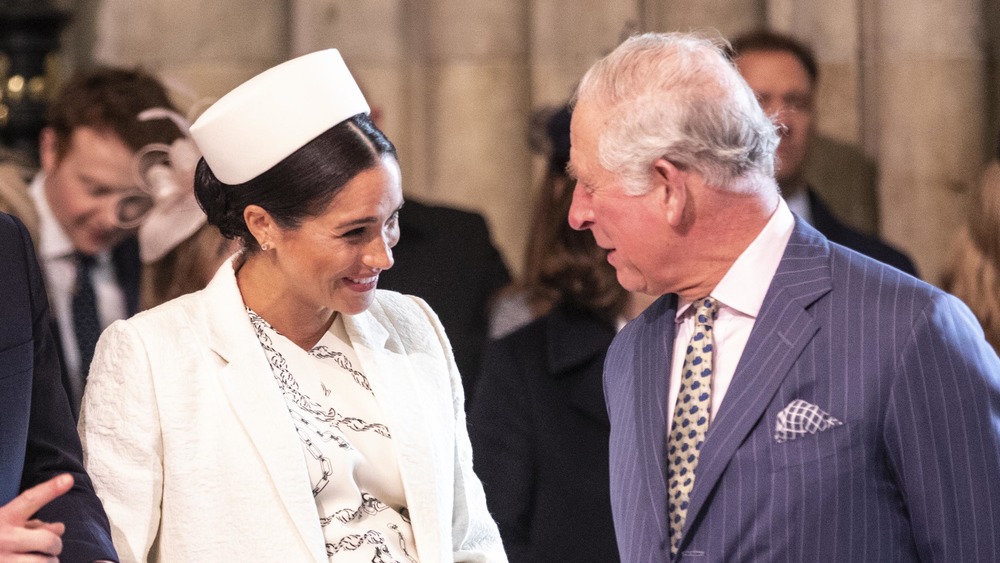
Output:
[[326,561],[325,540],[316,516],[309,470],[288,407],[279,392],[227,261],[203,292],[208,346],[227,365],[218,382],[229,405],[267,468],[275,489],[316,561]]

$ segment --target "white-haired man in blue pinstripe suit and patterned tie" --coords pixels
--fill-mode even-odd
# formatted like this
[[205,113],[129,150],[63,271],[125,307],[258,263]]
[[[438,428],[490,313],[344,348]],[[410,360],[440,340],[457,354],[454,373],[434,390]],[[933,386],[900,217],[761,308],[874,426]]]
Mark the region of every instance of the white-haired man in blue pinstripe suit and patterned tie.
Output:
[[1000,360],[957,299],[830,243],[725,53],[633,37],[584,77],[570,223],[662,297],[605,363],[622,560],[1000,560]]

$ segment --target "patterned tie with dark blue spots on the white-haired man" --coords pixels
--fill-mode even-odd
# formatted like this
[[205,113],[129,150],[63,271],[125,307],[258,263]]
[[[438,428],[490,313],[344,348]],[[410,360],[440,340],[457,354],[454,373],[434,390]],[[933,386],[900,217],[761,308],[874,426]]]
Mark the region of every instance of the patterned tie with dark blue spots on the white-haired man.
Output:
[[687,518],[695,467],[712,407],[712,324],[719,314],[719,303],[705,297],[699,299],[696,306],[694,335],[684,356],[677,407],[667,439],[670,552],[674,554]]

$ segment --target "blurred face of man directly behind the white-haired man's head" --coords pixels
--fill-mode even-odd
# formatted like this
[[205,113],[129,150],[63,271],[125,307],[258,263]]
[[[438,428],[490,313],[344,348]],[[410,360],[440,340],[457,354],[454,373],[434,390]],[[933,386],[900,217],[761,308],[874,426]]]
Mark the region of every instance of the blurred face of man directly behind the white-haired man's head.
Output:
[[796,189],[803,179],[815,129],[809,74],[787,51],[747,51],[736,59],[736,66],[764,111],[777,116],[783,126],[775,176],[782,189]]

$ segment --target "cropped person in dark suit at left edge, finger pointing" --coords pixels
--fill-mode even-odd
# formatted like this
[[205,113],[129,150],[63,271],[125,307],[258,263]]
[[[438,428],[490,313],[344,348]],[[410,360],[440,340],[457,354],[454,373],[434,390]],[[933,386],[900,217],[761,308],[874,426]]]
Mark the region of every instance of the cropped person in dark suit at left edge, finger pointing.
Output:
[[29,553],[116,560],[60,384],[31,240],[3,213],[0,287],[0,561]]

